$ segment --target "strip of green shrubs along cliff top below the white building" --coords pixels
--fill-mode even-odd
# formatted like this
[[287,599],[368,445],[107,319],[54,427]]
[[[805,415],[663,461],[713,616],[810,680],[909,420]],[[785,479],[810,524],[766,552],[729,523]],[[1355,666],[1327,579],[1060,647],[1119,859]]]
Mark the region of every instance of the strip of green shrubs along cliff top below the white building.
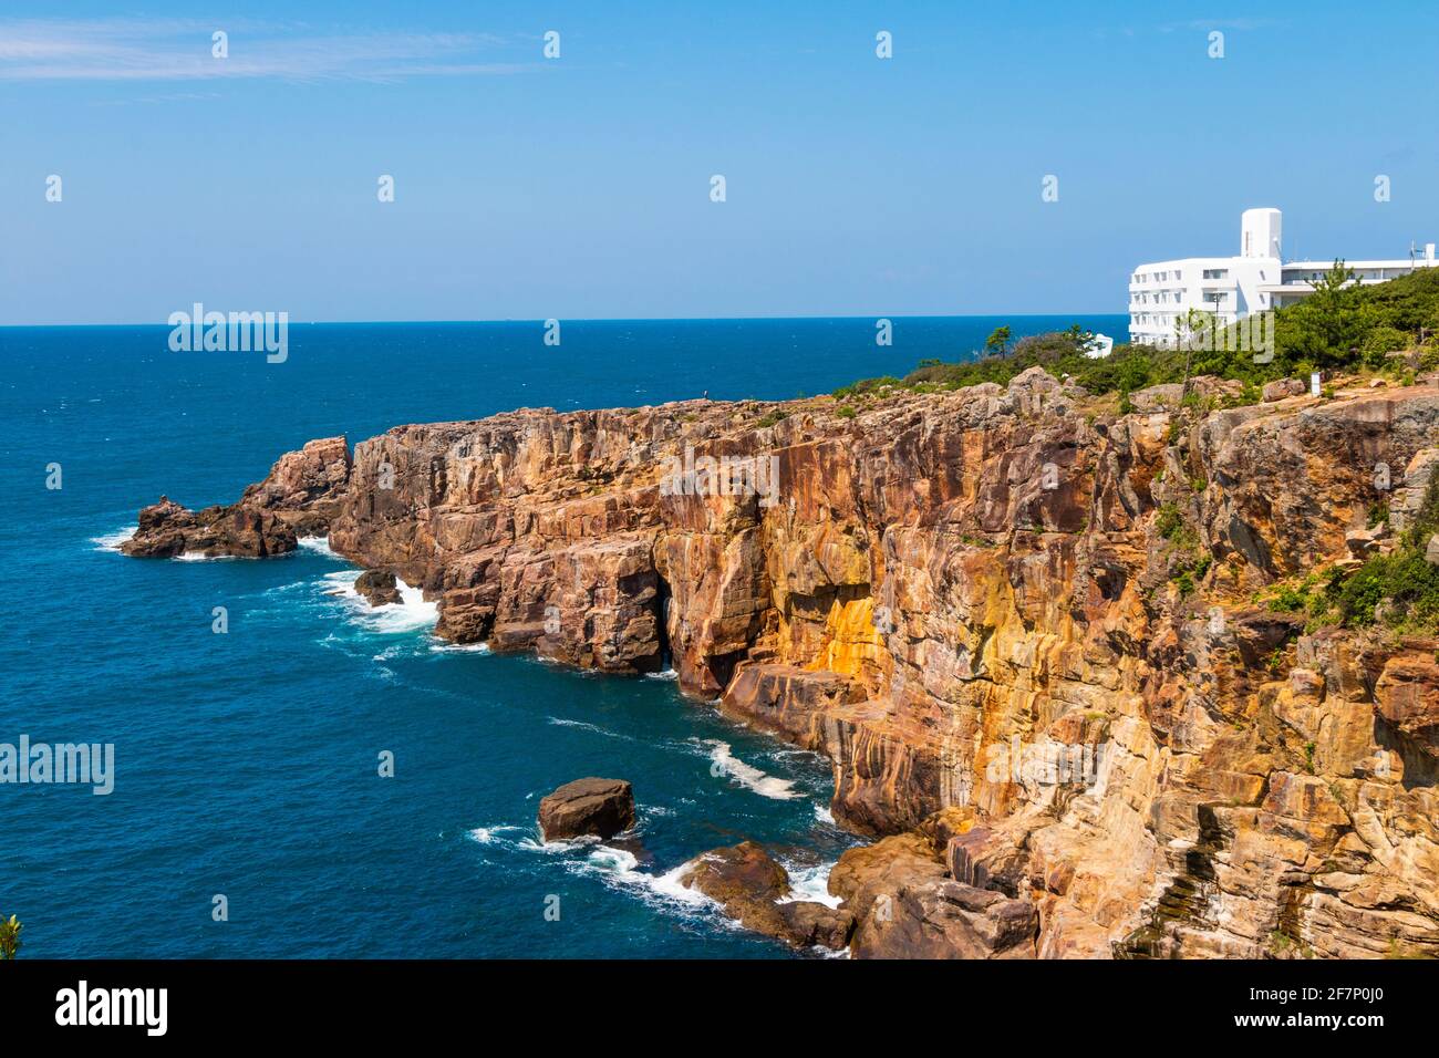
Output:
[[[1275,312],[1272,363],[1256,364],[1252,353],[1194,350],[1190,376],[1212,374],[1258,387],[1276,379],[1305,377],[1314,370],[1379,370],[1412,381],[1412,364],[1387,356],[1400,350],[1417,350],[1423,370],[1439,367],[1439,268],[1370,286],[1341,282],[1343,272],[1331,272],[1330,282],[1320,284],[1309,298]],[[1055,377],[1068,374],[1095,394],[1122,394],[1184,380],[1190,356],[1184,350],[1117,344],[1107,358],[1089,360],[1084,356],[1088,337],[1075,324],[1068,331],[1020,338],[1010,347],[1009,328],[999,328],[986,356],[976,351],[955,363],[924,360],[904,379],[865,379],[835,390],[835,397],[862,399],[886,387],[930,393],[986,381],[1004,386],[1036,366]]]

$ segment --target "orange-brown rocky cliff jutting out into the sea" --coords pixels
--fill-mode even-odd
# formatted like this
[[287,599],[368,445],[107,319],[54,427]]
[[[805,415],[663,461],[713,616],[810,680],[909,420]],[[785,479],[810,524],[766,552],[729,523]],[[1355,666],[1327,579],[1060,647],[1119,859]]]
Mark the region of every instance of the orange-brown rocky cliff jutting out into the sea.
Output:
[[882,839],[832,877],[856,954],[1439,954],[1439,641],[1258,602],[1389,546],[1367,512],[1422,501],[1439,387],[1179,396],[1121,415],[1033,369],[858,415],[400,426],[147,508],[127,550],[328,530],[440,636],[672,665],[833,761],[836,819]]

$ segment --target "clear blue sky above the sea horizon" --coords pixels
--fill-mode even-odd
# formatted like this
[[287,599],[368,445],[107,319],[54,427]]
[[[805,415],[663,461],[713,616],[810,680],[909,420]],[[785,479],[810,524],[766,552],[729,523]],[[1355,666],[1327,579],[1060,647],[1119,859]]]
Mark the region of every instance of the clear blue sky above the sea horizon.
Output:
[[7,3],[0,324],[1122,312],[1249,206],[1439,240],[1439,6],[1252,7]]

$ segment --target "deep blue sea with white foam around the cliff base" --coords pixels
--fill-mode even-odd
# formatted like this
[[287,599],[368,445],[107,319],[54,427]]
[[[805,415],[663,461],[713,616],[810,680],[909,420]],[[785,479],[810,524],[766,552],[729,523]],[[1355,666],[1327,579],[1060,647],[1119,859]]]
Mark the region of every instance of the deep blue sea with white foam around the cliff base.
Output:
[[[171,353],[164,327],[0,328],[0,743],[115,746],[109,796],[0,785],[22,954],[784,956],[663,875],[754,838],[822,890],[852,841],[827,822],[825,761],[671,681],[445,648],[423,605],[332,594],[355,570],[322,547],[138,561],[112,543],[161,492],[232,502],[317,436],[793,397],[955,358],[1000,322],[1076,321],[1127,322],[896,320],[888,348],[868,318],[568,322],[560,347],[538,322],[296,325],[283,364]],[[584,774],[633,782],[637,848],[538,846],[538,799]]]

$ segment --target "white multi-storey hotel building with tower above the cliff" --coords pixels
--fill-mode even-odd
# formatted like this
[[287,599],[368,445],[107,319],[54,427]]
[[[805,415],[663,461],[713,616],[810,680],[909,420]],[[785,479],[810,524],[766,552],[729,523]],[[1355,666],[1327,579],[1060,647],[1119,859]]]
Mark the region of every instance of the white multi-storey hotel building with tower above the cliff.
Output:
[[[1246,209],[1240,219],[1238,258],[1184,258],[1140,265],[1130,276],[1130,341],[1148,345],[1176,343],[1176,318],[1191,308],[1227,325],[1250,312],[1302,301],[1314,292],[1333,261],[1282,261],[1282,214],[1276,209]],[[1345,261],[1356,282],[1377,284],[1433,268],[1435,245],[1422,258]]]

